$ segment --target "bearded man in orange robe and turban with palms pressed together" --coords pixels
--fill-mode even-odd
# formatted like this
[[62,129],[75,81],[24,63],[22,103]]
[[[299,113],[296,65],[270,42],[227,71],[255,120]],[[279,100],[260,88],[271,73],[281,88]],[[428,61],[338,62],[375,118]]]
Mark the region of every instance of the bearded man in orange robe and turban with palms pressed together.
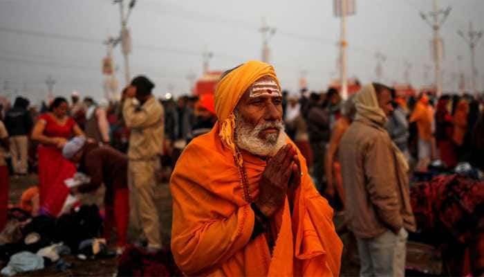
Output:
[[218,82],[217,123],[171,175],[171,251],[184,274],[339,274],[333,210],[283,132],[280,91],[272,66],[257,61]]

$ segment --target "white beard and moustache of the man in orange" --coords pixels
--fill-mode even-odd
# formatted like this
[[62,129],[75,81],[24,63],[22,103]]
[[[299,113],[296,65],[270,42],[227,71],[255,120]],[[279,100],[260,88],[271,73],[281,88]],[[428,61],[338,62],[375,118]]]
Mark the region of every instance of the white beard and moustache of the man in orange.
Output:
[[[273,157],[277,151],[286,145],[286,132],[282,120],[273,123],[264,123],[252,127],[241,114],[236,113],[235,120],[235,144],[238,148],[246,150],[261,157]],[[268,127],[276,127],[279,132],[268,134],[266,139],[260,139],[259,133]]]

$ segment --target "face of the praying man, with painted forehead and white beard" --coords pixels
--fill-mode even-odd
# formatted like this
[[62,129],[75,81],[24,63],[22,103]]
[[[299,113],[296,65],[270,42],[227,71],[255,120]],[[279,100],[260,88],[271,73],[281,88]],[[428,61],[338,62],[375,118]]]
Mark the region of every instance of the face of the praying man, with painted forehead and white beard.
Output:
[[236,107],[236,144],[252,154],[268,156],[285,142],[282,96],[277,83],[264,77],[245,91]]

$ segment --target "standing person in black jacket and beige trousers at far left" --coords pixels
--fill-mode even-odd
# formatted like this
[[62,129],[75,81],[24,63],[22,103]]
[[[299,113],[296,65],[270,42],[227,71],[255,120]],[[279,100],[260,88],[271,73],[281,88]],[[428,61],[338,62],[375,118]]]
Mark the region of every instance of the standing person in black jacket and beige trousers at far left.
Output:
[[28,135],[33,126],[32,117],[27,110],[28,105],[26,98],[17,97],[13,108],[5,115],[5,127],[10,134],[12,167],[16,175],[26,175],[28,172]]

